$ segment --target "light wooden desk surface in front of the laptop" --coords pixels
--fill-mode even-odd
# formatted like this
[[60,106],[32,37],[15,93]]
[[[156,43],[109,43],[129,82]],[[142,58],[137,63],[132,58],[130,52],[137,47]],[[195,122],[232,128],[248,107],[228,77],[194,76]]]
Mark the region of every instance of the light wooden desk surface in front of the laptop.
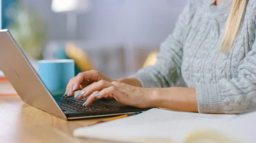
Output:
[[27,105],[18,95],[0,96],[0,143],[108,143],[73,137],[74,129],[96,120],[65,121]]

